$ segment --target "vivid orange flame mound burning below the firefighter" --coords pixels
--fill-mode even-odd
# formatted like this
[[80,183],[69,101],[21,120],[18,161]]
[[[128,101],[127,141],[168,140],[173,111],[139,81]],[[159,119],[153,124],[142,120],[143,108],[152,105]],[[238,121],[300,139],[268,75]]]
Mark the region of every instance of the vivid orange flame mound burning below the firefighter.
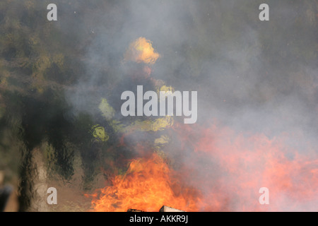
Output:
[[115,176],[112,186],[100,189],[99,196],[93,195],[93,208],[99,212],[124,212],[129,208],[158,212],[165,205],[198,210],[198,194],[180,185],[174,174],[156,153],[132,160],[126,174]]

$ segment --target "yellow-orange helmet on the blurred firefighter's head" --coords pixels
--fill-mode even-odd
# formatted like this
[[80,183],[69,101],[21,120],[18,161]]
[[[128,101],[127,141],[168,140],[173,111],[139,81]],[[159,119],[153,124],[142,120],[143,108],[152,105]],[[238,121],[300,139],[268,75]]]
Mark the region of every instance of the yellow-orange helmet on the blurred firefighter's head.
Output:
[[124,55],[126,61],[135,61],[136,63],[154,64],[160,57],[160,54],[155,52],[150,40],[144,37],[139,37],[134,42],[131,42],[129,49]]

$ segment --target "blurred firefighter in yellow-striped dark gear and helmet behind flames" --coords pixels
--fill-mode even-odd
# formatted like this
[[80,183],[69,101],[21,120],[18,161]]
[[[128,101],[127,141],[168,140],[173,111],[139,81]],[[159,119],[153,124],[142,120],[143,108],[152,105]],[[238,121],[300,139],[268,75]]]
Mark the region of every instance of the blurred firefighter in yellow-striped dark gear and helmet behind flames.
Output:
[[[92,127],[93,137],[100,143],[110,141],[110,133],[119,136],[119,143],[126,145],[129,142],[129,149],[134,148],[140,153],[140,149],[151,149],[162,157],[166,157],[163,147],[169,143],[169,136],[165,129],[170,128],[174,119],[171,116],[165,117],[122,117],[119,100],[121,93],[125,90],[134,90],[136,85],[143,85],[148,90],[172,91],[171,86],[165,85],[162,80],[151,77],[151,66],[160,55],[155,52],[152,44],[144,37],[131,42],[124,54],[123,71],[124,80],[112,91],[111,97],[102,97],[98,106],[105,123],[95,124]],[[102,124],[107,124],[103,126]],[[142,145],[141,145],[142,144]],[[117,145],[118,147],[118,145]],[[148,150],[146,150],[148,151]]]

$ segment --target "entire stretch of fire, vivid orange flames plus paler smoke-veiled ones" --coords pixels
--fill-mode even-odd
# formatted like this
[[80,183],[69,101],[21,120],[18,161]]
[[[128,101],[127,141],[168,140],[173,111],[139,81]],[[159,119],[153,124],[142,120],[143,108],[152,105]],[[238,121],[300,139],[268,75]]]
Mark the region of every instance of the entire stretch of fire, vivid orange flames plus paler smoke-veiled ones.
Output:
[[[317,211],[315,148],[300,151],[283,135],[247,135],[216,124],[173,129],[178,167],[155,153],[131,160],[126,174],[93,195],[94,210]],[[261,187],[269,189],[269,205],[259,203]]]

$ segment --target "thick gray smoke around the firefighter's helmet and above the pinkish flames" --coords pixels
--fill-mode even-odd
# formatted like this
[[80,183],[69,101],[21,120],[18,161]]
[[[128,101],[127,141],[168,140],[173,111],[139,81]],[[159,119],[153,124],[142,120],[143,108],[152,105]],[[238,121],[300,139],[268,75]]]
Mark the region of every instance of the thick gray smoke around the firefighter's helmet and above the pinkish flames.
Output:
[[270,20],[261,22],[260,2],[110,1],[92,11],[78,3],[71,9],[83,22],[78,35],[85,30],[91,40],[83,93],[70,93],[71,103],[93,110],[87,104],[100,100],[84,90],[103,92],[124,79],[124,52],[146,37],[161,55],[151,76],[199,91],[199,122],[217,117],[249,129],[317,132],[317,6],[269,2]]

